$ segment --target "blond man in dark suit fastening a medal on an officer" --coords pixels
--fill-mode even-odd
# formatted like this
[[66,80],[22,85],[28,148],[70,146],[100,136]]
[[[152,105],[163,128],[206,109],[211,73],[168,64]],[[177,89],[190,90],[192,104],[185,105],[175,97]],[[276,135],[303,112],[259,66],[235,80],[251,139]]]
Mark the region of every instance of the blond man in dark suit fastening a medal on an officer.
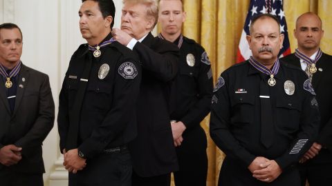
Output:
[[133,155],[133,185],[169,186],[178,169],[169,118],[169,86],[177,72],[178,48],[153,30],[158,19],[154,0],[123,1],[121,30],[113,37],[137,54],[142,64],[138,96],[138,136],[129,145]]

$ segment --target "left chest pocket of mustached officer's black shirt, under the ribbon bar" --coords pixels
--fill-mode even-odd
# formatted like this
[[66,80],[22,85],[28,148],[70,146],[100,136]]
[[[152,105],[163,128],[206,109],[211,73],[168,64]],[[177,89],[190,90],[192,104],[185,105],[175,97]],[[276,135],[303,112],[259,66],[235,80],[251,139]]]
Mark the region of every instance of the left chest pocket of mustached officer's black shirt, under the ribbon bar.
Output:
[[252,123],[255,112],[255,97],[249,94],[235,94],[231,98],[233,125]]

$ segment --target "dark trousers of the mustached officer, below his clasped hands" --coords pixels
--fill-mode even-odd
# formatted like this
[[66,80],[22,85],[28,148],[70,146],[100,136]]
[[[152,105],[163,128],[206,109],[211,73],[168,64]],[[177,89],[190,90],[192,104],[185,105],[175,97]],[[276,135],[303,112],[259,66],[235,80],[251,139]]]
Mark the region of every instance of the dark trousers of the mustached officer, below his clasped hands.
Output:
[[239,161],[226,156],[219,174],[219,186],[299,186],[297,167],[284,169],[282,174],[271,183],[264,183],[252,177],[249,169]]

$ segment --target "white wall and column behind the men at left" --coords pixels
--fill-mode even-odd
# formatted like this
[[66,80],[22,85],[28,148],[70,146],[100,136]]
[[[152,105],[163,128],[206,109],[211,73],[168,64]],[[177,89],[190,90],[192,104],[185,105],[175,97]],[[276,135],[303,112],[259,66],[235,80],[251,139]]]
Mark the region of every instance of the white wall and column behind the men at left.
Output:
[[[114,27],[120,27],[122,1],[116,4]],[[25,65],[50,76],[55,101],[55,127],[44,141],[45,185],[66,185],[67,172],[62,167],[57,134],[59,90],[73,52],[86,43],[80,34],[78,10],[81,0],[0,0],[0,23],[12,22],[23,32]]]

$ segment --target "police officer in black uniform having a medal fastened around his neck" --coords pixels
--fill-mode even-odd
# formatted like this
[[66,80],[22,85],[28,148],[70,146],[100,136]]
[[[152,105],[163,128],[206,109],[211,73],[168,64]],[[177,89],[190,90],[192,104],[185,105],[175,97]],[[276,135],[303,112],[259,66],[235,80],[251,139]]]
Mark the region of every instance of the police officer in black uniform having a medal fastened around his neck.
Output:
[[79,11],[87,43],[71,57],[57,118],[69,185],[131,185],[127,144],[137,135],[141,72],[111,37],[114,14],[109,0],[83,0]]

